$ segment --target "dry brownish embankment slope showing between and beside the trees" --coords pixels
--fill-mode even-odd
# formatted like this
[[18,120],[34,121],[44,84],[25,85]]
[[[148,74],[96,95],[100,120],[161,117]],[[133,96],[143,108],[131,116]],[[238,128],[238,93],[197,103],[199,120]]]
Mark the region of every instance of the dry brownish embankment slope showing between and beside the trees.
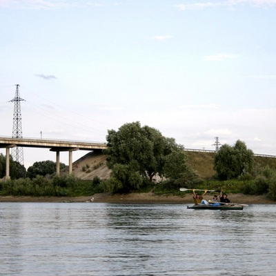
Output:
[[[215,175],[213,169],[215,152],[186,151],[188,164],[197,170],[202,179],[208,179]],[[255,161],[259,166],[270,166],[276,170],[276,158],[255,156]],[[89,152],[73,163],[73,172],[83,180],[93,179],[95,176],[107,179],[110,169],[106,167],[106,157],[101,152]]]

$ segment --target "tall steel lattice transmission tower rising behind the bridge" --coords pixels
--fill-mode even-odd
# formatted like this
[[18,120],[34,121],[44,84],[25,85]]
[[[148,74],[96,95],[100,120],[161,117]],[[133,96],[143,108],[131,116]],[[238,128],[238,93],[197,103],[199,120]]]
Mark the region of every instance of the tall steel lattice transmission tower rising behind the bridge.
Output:
[[[15,97],[11,100],[14,103],[13,112],[13,126],[12,126],[12,138],[22,138],[22,122],[21,122],[21,106],[20,101],[25,101],[19,96],[19,84],[15,90]],[[23,148],[15,147],[12,148],[12,159],[17,161],[19,164],[24,166]]]

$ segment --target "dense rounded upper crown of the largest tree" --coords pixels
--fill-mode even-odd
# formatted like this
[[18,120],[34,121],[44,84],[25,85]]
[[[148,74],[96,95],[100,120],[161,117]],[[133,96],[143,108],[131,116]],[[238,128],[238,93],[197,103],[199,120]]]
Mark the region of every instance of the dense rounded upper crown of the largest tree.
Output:
[[104,151],[108,168],[128,164],[141,177],[152,177],[162,168],[166,138],[155,128],[141,127],[139,122],[125,124],[119,131],[108,130],[108,149]]

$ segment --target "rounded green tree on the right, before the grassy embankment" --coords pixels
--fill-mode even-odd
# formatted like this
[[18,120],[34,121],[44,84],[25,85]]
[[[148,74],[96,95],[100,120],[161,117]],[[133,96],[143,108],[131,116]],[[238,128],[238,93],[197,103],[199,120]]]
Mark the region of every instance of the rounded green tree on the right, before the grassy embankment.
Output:
[[235,179],[253,170],[254,154],[243,141],[234,146],[224,144],[215,155],[214,168],[220,180]]

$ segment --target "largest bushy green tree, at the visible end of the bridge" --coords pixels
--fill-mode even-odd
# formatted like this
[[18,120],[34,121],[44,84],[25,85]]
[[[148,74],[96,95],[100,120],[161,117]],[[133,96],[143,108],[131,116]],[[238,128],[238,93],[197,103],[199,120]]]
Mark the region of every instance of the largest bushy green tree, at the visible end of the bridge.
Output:
[[[176,156],[181,155],[180,162],[186,162],[181,158],[184,149],[175,143],[175,139],[164,137],[155,128],[141,127],[138,121],[124,124],[118,131],[108,130],[106,140],[108,148],[103,153],[108,168],[112,169],[108,183],[112,192],[135,190],[150,184],[155,175],[164,175],[165,166],[172,161],[167,157],[173,151]],[[167,175],[172,177],[168,170]],[[175,179],[177,177],[179,175]],[[181,177],[183,179],[183,175]]]

